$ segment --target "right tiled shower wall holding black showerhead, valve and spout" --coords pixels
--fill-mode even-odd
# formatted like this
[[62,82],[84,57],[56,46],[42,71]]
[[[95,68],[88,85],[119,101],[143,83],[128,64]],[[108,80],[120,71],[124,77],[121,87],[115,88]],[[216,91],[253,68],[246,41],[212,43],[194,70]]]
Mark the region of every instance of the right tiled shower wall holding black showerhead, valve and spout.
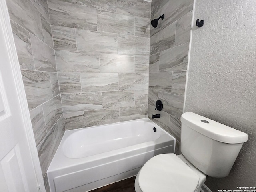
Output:
[[[193,0],[153,0],[151,19],[164,14],[158,26],[151,26],[148,116],[176,138],[175,153],[179,154],[188,47]],[[156,100],[163,110],[155,110]]]

